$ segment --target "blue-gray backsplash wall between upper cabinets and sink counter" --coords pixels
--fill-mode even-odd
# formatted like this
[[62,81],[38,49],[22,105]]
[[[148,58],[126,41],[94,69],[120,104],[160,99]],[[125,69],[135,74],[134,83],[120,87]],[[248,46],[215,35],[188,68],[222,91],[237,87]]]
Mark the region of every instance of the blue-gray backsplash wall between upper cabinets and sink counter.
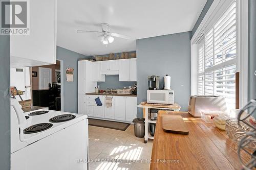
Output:
[[100,89],[123,89],[123,87],[128,88],[134,84],[136,84],[136,82],[119,82],[118,75],[105,76],[105,82],[97,82],[97,85],[99,85]]

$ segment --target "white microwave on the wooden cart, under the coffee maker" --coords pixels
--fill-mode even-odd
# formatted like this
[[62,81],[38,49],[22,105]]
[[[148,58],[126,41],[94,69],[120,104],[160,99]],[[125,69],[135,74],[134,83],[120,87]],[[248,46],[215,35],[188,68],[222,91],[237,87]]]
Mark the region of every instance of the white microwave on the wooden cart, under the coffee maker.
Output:
[[147,103],[174,104],[174,90],[147,90]]

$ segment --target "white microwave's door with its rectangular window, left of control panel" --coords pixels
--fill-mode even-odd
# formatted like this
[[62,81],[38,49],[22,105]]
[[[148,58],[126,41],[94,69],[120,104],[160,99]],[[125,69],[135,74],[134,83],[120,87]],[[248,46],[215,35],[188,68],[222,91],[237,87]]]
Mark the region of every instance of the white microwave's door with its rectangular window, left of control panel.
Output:
[[147,103],[168,104],[168,91],[147,90]]

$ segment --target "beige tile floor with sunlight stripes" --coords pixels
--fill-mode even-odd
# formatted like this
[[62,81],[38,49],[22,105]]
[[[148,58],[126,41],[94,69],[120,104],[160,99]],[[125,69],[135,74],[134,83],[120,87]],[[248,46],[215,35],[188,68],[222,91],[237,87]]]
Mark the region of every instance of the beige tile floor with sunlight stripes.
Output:
[[149,169],[153,140],[134,136],[134,126],[125,131],[89,126],[90,170]]

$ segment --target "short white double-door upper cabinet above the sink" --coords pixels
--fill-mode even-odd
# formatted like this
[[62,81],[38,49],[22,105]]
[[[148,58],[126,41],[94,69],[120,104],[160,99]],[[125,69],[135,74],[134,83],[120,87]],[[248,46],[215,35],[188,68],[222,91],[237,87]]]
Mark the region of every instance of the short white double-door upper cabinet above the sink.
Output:
[[100,62],[101,73],[106,75],[117,75],[119,70],[119,61],[110,60],[110,61],[101,61]]

